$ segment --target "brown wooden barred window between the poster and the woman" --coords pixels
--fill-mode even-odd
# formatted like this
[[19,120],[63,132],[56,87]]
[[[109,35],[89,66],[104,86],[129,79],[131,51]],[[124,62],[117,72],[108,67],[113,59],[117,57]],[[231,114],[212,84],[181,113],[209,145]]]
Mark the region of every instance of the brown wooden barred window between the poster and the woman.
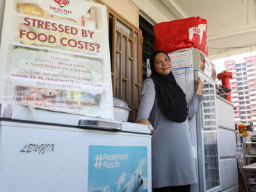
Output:
[[111,7],[107,8],[113,97],[128,104],[132,110],[129,121],[136,121],[142,85],[141,30]]

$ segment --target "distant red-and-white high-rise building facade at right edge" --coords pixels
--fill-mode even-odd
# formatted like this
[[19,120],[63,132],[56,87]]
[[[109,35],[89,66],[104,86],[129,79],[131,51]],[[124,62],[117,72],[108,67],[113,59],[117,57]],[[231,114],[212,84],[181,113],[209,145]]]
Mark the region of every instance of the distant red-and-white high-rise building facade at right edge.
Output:
[[232,71],[230,80],[232,103],[235,107],[236,123],[256,125],[256,56],[225,62],[225,70]]

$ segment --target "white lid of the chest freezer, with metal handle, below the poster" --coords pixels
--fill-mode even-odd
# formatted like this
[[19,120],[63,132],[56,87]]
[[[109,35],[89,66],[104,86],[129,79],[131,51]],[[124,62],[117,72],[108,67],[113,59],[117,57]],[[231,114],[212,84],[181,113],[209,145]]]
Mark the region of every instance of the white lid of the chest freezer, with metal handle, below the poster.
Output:
[[[119,122],[78,114],[67,114],[63,112],[29,108],[20,105],[10,105],[6,103],[0,104],[0,119],[31,121],[34,123],[48,123],[61,126],[78,126],[79,128],[104,128],[105,130],[112,129],[122,132],[135,132],[142,134],[151,134],[152,130],[151,126],[139,123]],[[99,127],[97,127],[97,125]]]

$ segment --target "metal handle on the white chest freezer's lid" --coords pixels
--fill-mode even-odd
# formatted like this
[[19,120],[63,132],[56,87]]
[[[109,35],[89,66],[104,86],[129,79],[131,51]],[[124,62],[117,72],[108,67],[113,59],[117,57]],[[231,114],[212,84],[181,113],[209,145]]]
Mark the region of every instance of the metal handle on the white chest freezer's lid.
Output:
[[99,120],[87,120],[80,119],[78,126],[81,128],[95,128],[103,130],[122,130],[122,123],[114,123],[109,121],[99,121]]

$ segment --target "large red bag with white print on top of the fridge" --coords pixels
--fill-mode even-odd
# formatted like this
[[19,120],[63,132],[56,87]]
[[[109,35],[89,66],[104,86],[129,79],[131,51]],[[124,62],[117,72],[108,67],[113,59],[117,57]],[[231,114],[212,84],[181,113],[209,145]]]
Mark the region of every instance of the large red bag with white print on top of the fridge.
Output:
[[208,55],[207,20],[190,17],[154,25],[154,50],[170,53],[195,47]]

